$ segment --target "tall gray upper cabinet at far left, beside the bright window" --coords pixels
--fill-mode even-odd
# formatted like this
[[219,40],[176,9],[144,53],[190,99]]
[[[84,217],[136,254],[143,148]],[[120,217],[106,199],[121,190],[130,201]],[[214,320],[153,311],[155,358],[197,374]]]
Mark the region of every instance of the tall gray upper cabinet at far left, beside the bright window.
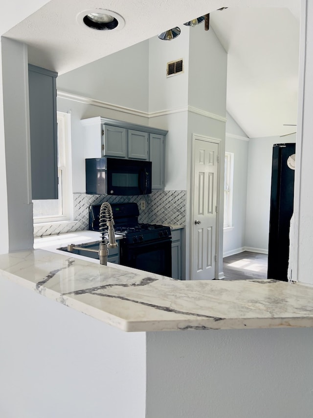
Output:
[[32,199],[58,198],[56,77],[28,65]]

